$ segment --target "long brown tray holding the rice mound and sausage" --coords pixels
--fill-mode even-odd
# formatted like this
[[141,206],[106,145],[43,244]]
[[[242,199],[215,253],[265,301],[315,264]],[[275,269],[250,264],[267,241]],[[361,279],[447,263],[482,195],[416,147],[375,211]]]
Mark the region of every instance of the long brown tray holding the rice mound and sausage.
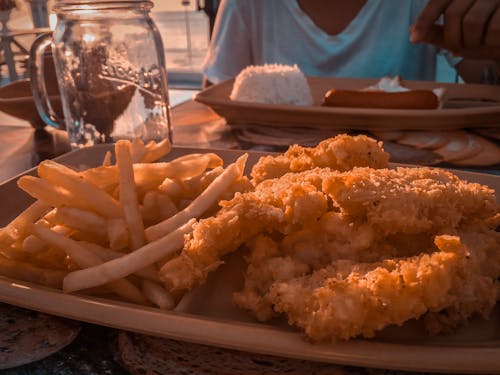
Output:
[[403,81],[410,89],[447,91],[443,109],[405,110],[322,107],[332,89],[359,90],[377,79],[308,77],[314,105],[275,105],[233,101],[234,79],[213,85],[195,96],[229,125],[257,124],[273,127],[305,127],[333,130],[449,130],[500,127],[500,87],[493,85]]

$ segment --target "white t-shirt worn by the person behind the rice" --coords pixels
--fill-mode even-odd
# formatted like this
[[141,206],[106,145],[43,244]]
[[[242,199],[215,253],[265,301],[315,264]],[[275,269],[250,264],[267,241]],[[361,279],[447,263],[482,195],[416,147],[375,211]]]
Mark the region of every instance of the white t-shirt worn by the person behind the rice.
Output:
[[[297,0],[222,0],[203,72],[218,83],[248,65],[282,63],[309,76],[434,80],[439,51],[409,41],[426,2],[368,0],[340,34],[329,35]],[[446,57],[452,66],[460,61]]]

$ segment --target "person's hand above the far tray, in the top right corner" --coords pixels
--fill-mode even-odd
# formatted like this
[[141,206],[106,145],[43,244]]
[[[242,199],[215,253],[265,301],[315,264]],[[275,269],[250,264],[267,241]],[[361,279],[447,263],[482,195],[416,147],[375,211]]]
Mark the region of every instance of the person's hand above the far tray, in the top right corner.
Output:
[[[435,23],[440,16],[443,25]],[[500,0],[429,0],[410,28],[410,40],[500,61]]]

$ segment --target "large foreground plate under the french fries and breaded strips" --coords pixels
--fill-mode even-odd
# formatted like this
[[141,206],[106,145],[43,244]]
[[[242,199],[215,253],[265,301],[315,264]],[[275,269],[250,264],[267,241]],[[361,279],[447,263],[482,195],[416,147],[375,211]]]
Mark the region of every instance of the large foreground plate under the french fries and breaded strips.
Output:
[[[97,165],[106,147],[82,149],[59,158],[74,166]],[[175,149],[171,156],[211,150]],[[239,151],[217,150],[226,161]],[[250,162],[260,156],[252,153]],[[32,173],[32,172],[31,172]],[[457,172],[469,181],[486,183],[500,191],[500,177]],[[0,186],[5,225],[26,207],[30,199],[17,189],[16,179]],[[8,200],[5,197],[9,197]],[[7,202],[6,202],[7,201]],[[337,364],[385,369],[492,373],[500,369],[500,311],[489,321],[472,320],[453,335],[427,337],[419,322],[390,327],[371,340],[336,344],[311,344],[282,321],[260,324],[231,303],[231,294],[242,282],[243,261],[235,253],[207,283],[188,294],[176,311],[123,303],[115,300],[64,294],[59,290],[0,277],[0,301],[109,327],[184,341]]]

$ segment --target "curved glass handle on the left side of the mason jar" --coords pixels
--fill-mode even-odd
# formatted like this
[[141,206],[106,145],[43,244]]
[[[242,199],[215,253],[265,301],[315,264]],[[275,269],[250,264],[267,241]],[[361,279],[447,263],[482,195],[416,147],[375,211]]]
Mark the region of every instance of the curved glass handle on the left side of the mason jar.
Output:
[[52,33],[45,33],[36,38],[30,49],[30,80],[33,99],[36,109],[43,122],[58,129],[64,129],[63,122],[59,119],[50,104],[45,84],[44,54],[47,47],[52,44]]

